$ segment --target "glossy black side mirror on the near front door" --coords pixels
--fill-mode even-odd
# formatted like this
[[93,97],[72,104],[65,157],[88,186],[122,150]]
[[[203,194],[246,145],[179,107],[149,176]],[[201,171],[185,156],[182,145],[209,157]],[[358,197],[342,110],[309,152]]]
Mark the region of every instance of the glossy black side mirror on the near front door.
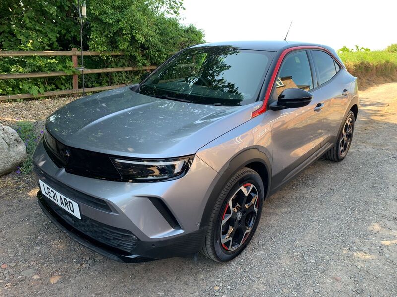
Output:
[[270,109],[280,110],[303,107],[308,105],[312,99],[313,95],[305,90],[289,88],[281,92],[276,102],[270,104]]

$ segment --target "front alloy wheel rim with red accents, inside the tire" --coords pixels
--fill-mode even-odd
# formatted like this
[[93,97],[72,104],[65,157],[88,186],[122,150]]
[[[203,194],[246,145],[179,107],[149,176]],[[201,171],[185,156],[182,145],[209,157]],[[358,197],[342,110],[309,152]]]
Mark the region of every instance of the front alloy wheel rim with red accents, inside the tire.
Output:
[[258,190],[252,183],[242,185],[225,206],[220,242],[227,251],[241,247],[254,226],[259,206]]

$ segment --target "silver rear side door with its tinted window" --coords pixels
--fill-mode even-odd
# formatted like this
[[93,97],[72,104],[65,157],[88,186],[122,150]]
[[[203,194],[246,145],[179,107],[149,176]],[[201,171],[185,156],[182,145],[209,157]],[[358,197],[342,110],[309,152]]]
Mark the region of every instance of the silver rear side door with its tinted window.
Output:
[[343,68],[328,53],[311,50],[318,87],[311,93],[316,100],[324,102],[324,141],[334,143],[347,105],[350,101],[350,83],[346,81]]

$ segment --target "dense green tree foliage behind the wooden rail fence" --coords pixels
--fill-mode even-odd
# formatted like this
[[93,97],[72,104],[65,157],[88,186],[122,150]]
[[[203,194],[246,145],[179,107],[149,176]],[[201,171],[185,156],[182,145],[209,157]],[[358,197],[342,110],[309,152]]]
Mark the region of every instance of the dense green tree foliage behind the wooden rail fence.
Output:
[[[80,48],[77,0],[1,0],[0,50]],[[203,42],[193,25],[179,23],[181,0],[87,0],[83,49],[124,56],[84,57],[86,68],[160,64],[172,53]],[[0,58],[0,73],[73,71],[70,57]],[[136,80],[139,73],[90,74],[86,87]],[[71,77],[0,81],[0,94],[69,89]]]

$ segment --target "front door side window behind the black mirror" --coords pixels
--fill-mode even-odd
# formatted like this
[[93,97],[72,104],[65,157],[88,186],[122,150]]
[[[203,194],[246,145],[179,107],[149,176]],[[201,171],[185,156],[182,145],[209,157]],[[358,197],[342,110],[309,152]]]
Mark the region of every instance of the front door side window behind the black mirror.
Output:
[[312,72],[306,51],[292,52],[281,64],[276,82],[277,96],[289,88],[313,89]]

